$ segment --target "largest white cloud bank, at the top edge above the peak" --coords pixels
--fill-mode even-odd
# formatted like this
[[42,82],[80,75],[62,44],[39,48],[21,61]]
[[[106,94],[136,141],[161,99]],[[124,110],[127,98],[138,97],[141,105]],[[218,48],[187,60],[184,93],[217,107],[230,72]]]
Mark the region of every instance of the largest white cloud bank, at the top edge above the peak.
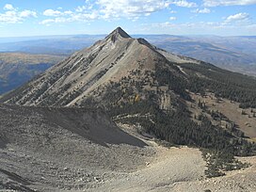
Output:
[[43,15],[50,18],[43,20],[40,24],[89,22],[96,19],[117,20],[120,18],[136,21],[141,16],[150,16],[152,12],[168,8],[169,5],[169,0],[97,0],[94,4],[87,0],[84,6],[79,6],[73,11],[44,10]]

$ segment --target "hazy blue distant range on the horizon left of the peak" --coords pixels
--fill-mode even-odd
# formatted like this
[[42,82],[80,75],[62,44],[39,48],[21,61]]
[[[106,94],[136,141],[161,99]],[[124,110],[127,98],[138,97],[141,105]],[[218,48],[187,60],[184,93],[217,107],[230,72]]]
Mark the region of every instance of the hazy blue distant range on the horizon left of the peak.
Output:
[[69,56],[103,37],[101,35],[76,35],[0,39],[0,52]]

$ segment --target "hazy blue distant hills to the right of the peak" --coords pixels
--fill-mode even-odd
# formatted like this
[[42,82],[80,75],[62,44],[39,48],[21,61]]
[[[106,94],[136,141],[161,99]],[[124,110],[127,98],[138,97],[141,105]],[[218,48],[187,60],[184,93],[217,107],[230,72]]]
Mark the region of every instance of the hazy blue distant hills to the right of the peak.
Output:
[[163,35],[147,38],[174,54],[191,56],[233,72],[256,75],[255,37]]

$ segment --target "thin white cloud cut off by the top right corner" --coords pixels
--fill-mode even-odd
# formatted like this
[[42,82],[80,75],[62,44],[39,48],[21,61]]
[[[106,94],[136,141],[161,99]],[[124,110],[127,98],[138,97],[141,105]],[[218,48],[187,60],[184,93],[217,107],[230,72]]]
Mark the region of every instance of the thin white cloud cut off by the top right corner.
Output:
[[256,0],[203,0],[205,7],[216,6],[247,6],[256,4]]

